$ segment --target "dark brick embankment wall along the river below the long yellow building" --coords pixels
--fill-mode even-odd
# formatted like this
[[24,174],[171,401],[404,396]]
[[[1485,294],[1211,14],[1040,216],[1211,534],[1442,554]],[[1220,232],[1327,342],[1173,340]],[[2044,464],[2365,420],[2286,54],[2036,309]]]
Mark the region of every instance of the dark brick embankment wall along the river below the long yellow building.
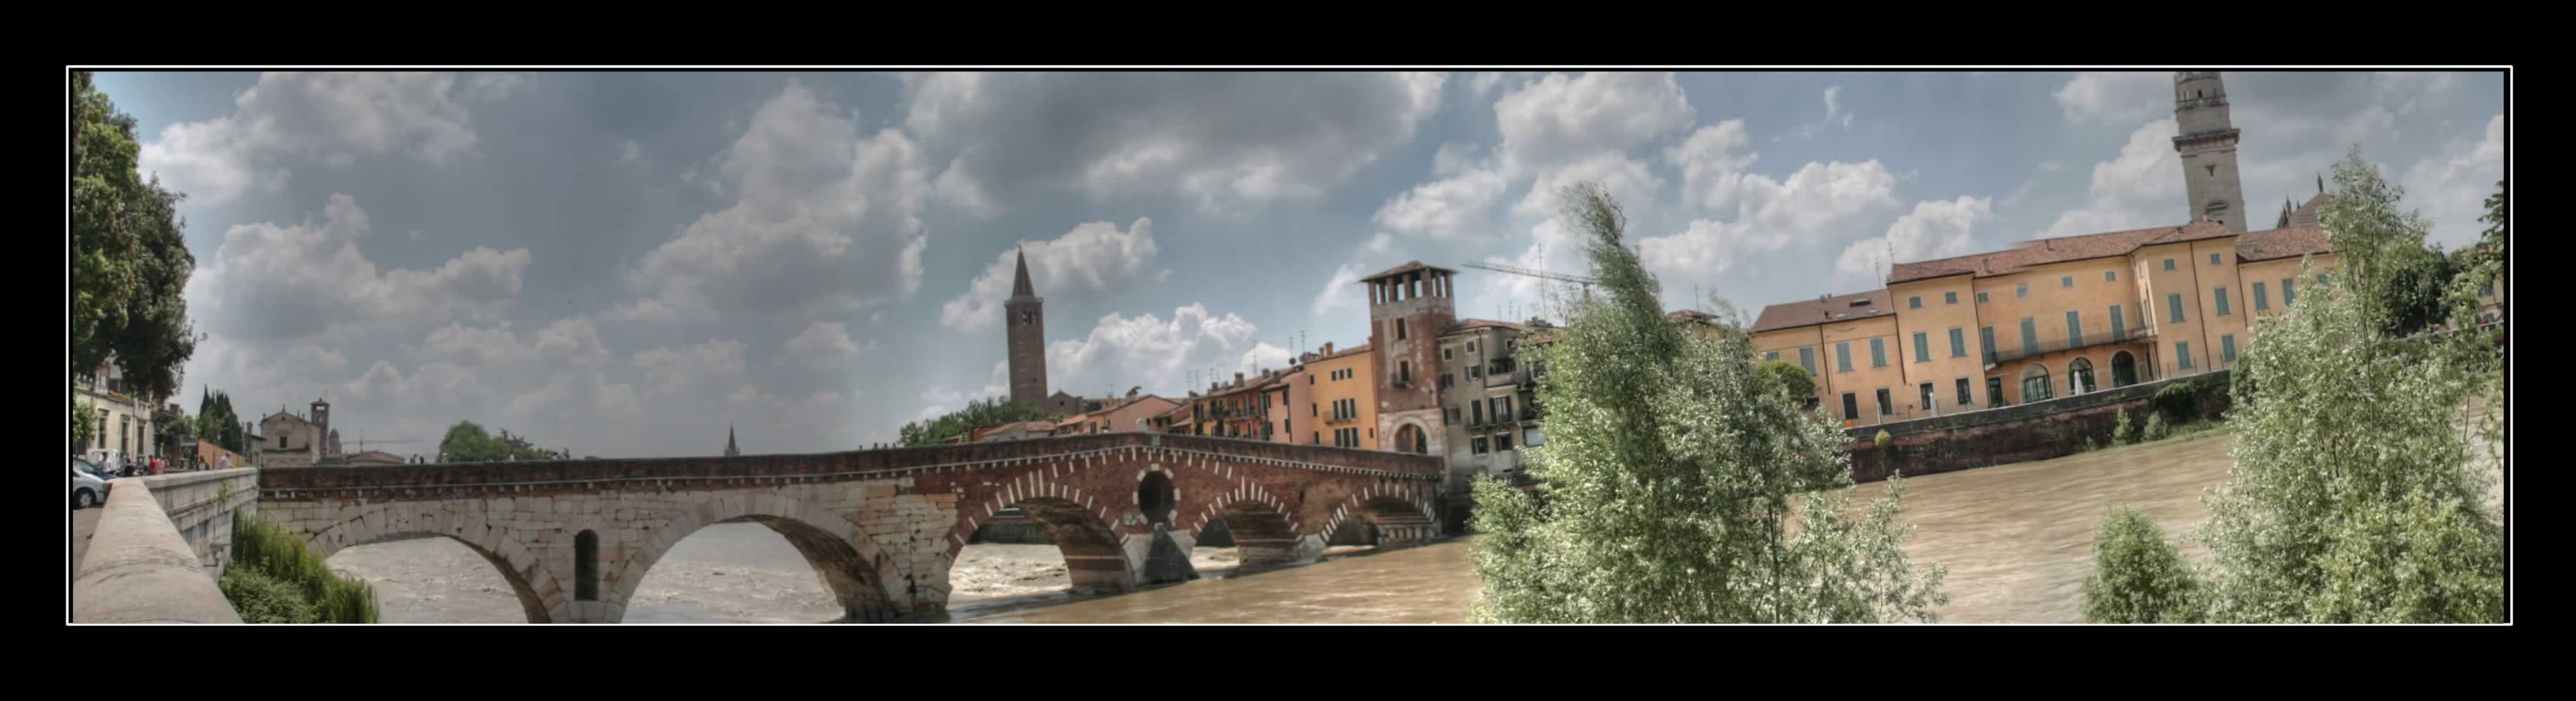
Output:
[[[1852,479],[1878,482],[1901,469],[1904,477],[1955,472],[1971,466],[2061,459],[2084,448],[2092,438],[2097,448],[2110,448],[2110,433],[2128,412],[2136,430],[2146,430],[2146,418],[2156,412],[2156,389],[2174,381],[2197,381],[2200,415],[2218,418],[2228,410],[2228,371],[2195,374],[2076,394],[2050,402],[1927,418],[1888,425],[1852,428]],[[2187,418],[2190,420],[2190,418]],[[2166,425],[2177,425],[2166,418]],[[1878,430],[1891,436],[1888,448],[1878,448]]]

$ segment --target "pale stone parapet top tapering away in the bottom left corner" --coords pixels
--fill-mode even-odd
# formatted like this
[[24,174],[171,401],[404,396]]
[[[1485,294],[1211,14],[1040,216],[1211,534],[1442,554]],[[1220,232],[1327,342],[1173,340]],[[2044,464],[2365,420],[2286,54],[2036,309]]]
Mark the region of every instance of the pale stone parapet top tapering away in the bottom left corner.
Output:
[[149,479],[118,479],[72,575],[72,621],[240,624],[242,613],[206,572]]

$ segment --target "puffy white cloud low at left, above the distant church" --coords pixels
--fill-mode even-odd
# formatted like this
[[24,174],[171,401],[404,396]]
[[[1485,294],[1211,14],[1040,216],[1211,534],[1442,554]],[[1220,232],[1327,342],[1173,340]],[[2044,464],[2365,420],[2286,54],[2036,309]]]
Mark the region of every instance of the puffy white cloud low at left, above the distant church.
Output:
[[358,253],[368,216],[330,196],[322,222],[240,224],[188,278],[188,309],[245,343],[374,327],[497,320],[518,299],[528,250],[474,247],[430,271],[384,271]]

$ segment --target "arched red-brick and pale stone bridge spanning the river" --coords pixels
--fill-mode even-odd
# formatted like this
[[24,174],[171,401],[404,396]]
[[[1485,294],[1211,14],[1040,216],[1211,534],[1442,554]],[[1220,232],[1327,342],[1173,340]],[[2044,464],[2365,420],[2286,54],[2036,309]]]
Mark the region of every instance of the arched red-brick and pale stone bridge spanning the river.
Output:
[[[1103,433],[811,456],[263,469],[260,513],[330,557],[446,536],[492,562],[536,624],[611,624],[644,572],[711,523],[762,523],[853,621],[935,619],[948,567],[1005,508],[1046,523],[1072,585],[1185,580],[1170,557],[1224,521],[1247,570],[1311,562],[1347,521],[1381,546],[1437,539],[1435,456]],[[1157,546],[1159,544],[1159,546]],[[1151,567],[1149,567],[1151,564]]]

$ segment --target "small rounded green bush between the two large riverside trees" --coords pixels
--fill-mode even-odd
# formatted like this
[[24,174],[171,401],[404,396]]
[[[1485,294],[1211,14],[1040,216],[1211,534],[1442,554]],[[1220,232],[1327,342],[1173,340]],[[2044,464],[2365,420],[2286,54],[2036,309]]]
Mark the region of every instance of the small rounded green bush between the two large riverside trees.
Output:
[[2084,577],[2084,621],[2197,624],[2200,580],[2156,521],[2123,505],[2094,533],[2094,572]]

